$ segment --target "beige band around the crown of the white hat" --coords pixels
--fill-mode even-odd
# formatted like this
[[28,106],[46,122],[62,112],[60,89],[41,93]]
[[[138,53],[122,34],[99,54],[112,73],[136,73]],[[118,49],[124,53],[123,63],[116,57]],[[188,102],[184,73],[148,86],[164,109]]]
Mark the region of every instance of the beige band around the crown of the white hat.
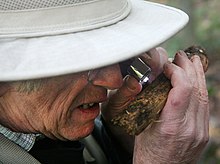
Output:
[[128,16],[130,10],[129,0],[93,0],[42,9],[2,10],[0,38],[92,30],[119,22]]

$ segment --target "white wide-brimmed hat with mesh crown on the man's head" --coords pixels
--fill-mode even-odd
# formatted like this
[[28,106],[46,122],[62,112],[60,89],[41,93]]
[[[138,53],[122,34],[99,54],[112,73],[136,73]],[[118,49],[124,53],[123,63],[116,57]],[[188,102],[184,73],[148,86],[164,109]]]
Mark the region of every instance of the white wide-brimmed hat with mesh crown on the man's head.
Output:
[[0,81],[90,70],[137,56],[188,22],[143,0],[0,1]]

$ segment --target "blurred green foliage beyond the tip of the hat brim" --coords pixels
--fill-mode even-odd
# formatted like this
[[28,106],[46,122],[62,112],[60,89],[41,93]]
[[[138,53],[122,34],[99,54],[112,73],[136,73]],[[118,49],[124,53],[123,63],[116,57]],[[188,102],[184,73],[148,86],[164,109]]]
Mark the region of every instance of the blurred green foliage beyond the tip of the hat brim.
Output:
[[220,1],[219,0],[151,0],[185,11],[189,24],[176,36],[166,41],[169,54],[189,45],[203,46],[209,54],[216,56],[220,52]]

